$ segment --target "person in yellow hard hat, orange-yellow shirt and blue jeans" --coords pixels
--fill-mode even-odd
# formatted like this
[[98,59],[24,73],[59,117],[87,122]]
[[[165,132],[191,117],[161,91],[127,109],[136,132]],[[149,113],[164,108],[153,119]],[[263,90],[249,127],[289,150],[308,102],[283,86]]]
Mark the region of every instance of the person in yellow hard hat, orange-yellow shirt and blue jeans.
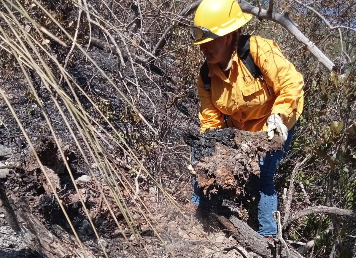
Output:
[[[277,193],[273,177],[293,136],[295,123],[303,109],[303,77],[272,40],[249,38],[249,51],[256,69],[255,78],[239,53],[241,27],[252,15],[241,11],[236,0],[203,0],[190,28],[193,44],[199,45],[208,65],[210,89],[198,77],[200,133],[207,128],[235,127],[250,132],[266,131],[272,139],[278,133],[284,146],[280,151],[260,158],[260,177],[253,187],[257,192],[258,233],[275,236]],[[228,117],[224,121],[224,116]],[[194,193],[187,205],[195,210],[208,206],[208,198],[199,191],[193,178]]]

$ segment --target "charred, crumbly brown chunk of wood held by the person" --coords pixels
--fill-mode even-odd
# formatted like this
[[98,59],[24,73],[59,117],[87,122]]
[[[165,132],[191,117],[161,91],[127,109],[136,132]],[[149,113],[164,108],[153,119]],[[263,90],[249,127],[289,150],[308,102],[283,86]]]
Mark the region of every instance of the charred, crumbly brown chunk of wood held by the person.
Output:
[[205,194],[228,191],[237,196],[251,174],[260,175],[260,158],[264,152],[282,148],[275,136],[268,141],[266,132],[247,132],[236,128],[206,130],[204,134],[189,133],[184,141],[194,149],[193,168],[198,186]]

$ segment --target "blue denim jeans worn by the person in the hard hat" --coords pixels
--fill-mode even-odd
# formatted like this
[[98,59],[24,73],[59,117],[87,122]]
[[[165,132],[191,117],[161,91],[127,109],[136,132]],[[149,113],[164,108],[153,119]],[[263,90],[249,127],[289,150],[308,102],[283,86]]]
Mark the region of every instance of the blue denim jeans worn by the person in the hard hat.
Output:
[[[272,212],[277,211],[277,192],[274,188],[273,177],[279,162],[281,162],[284,153],[288,150],[290,142],[292,142],[293,132],[294,126],[289,130],[287,140],[281,150],[266,153],[265,158],[260,158],[261,173],[260,177],[256,177],[254,180],[256,183],[253,185],[253,189],[256,193],[256,200],[258,203],[257,218],[260,223],[260,228],[257,233],[264,237],[268,237],[270,235],[275,236],[277,234],[277,224],[272,215]],[[195,160],[193,160],[193,163],[194,162]],[[195,180],[195,177],[193,178],[193,188],[194,192],[190,203],[200,207],[208,206],[209,198],[208,196],[205,196],[203,192],[199,191],[198,183]]]

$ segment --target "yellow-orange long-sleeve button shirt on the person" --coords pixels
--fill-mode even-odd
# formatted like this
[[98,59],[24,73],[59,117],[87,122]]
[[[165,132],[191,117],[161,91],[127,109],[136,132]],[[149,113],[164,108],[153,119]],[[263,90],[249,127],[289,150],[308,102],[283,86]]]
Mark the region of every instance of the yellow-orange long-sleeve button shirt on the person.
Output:
[[199,75],[200,133],[206,128],[225,127],[224,114],[229,116],[229,127],[251,132],[266,131],[266,121],[271,114],[279,114],[289,130],[302,114],[302,74],[283,56],[278,45],[252,36],[250,52],[264,80],[253,78],[237,54],[229,78],[218,64],[208,64],[210,90],[204,89]]

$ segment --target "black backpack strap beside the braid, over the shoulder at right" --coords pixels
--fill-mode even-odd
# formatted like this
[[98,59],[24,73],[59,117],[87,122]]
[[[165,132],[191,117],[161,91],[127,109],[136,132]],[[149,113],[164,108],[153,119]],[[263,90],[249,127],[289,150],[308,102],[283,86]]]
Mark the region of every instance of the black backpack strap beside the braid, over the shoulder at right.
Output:
[[255,61],[253,60],[250,52],[250,38],[251,35],[240,35],[238,54],[242,63],[244,63],[248,72],[251,73],[253,78],[255,79],[260,78],[263,80],[261,70],[255,64]]

